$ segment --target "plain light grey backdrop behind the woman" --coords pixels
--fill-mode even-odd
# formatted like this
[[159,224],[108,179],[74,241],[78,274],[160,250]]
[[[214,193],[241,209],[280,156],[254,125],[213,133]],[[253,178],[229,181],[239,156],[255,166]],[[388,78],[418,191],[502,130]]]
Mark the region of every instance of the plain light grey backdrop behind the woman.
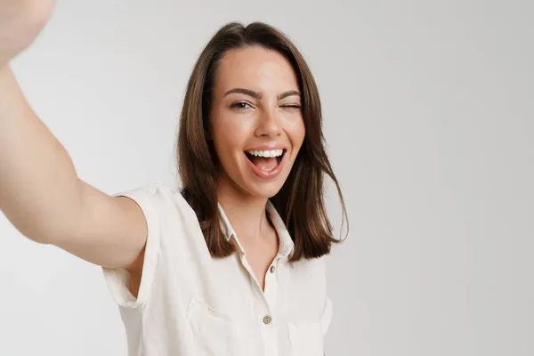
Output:
[[[62,0],[12,68],[111,194],[175,182],[186,81],[214,32],[278,27],[320,87],[351,223],[328,257],[326,354],[531,356],[533,16],[526,0]],[[125,353],[100,267],[0,214],[0,355]]]

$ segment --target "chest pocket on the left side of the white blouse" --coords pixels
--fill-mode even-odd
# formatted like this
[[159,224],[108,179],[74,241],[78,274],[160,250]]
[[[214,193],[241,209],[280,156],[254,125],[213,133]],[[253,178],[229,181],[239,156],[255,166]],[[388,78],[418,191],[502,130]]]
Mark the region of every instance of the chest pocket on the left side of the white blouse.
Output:
[[247,323],[193,298],[186,316],[191,356],[254,355],[252,329]]

